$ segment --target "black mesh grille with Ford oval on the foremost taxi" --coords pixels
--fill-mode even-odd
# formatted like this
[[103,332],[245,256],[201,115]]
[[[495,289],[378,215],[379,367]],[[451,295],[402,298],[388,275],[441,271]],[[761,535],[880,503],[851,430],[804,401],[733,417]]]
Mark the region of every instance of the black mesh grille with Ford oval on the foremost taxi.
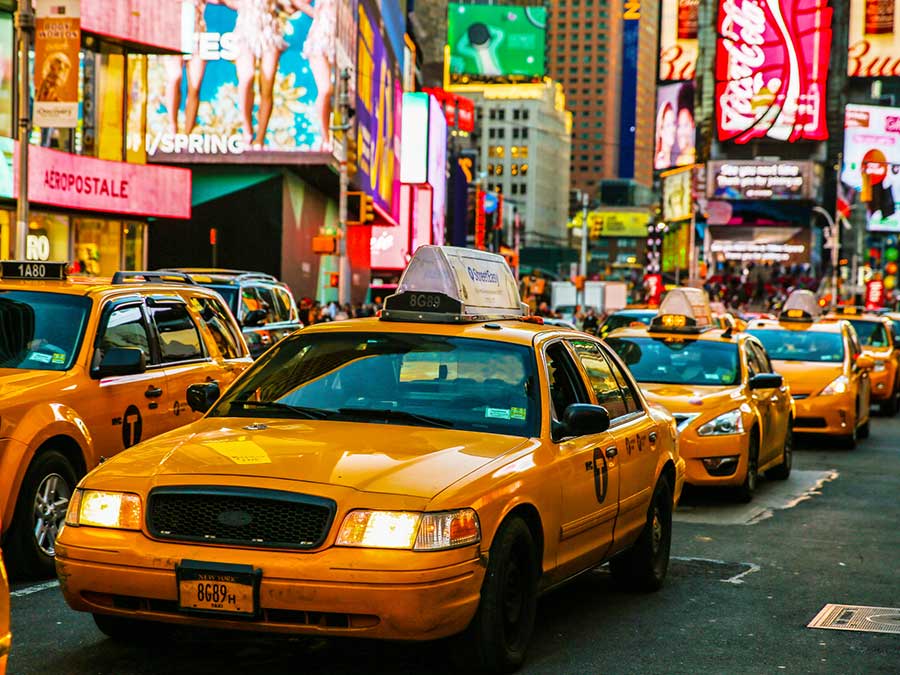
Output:
[[325,540],[335,510],[330,499],[278,490],[162,487],[147,501],[147,529],[159,539],[308,549]]

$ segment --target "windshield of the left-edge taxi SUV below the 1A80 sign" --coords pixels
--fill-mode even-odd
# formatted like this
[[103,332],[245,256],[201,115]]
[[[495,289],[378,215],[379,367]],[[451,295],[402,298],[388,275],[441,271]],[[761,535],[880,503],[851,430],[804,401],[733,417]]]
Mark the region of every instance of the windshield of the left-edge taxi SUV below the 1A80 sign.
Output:
[[0,368],[68,370],[90,310],[79,295],[0,290]]

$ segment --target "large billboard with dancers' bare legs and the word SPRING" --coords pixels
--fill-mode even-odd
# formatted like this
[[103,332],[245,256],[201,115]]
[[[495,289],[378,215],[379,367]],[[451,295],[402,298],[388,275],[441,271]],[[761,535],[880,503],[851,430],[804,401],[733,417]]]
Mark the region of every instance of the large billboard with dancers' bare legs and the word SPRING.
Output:
[[[317,3],[318,4],[318,3]],[[282,12],[186,0],[189,56],[153,56],[147,155],[155,161],[297,161],[329,153],[335,8]],[[273,156],[275,155],[275,156]]]

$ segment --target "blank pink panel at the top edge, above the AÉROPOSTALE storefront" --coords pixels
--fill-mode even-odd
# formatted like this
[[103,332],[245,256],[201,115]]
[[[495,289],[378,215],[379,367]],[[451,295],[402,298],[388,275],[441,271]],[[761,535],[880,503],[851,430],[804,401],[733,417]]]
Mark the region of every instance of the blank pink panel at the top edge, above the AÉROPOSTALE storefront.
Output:
[[81,30],[181,51],[182,0],[81,0]]

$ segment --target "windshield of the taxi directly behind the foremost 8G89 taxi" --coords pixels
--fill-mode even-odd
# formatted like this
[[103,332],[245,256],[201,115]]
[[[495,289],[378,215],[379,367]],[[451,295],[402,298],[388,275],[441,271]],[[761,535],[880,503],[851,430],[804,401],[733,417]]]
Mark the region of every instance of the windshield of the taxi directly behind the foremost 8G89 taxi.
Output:
[[735,385],[741,380],[736,344],[684,338],[611,338],[638,382]]

